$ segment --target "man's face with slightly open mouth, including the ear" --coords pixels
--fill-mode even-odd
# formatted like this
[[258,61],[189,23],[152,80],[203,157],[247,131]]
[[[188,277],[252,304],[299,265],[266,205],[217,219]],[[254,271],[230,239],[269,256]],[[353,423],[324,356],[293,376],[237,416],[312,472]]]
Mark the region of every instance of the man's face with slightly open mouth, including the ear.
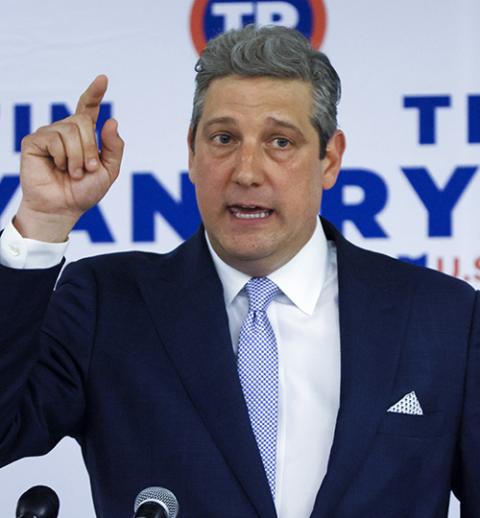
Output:
[[190,178],[216,253],[249,275],[268,275],[302,248],[336,181],[343,134],[320,160],[311,113],[311,85],[300,80],[228,76],[208,88]]

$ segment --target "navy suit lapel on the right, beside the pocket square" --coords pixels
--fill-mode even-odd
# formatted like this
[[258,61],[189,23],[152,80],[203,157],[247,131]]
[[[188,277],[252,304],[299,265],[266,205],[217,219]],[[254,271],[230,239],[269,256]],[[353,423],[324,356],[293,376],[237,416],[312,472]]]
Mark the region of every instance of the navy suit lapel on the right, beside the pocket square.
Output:
[[337,246],[341,341],[340,408],[327,473],[312,518],[335,507],[368,454],[388,408],[411,289],[389,278],[385,259],[351,245],[324,222]]

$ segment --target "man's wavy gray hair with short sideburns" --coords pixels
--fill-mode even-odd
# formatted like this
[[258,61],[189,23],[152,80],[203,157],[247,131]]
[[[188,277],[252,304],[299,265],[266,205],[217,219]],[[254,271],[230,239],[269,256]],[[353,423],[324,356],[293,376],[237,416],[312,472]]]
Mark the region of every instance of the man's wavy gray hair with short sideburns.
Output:
[[210,40],[195,65],[192,147],[210,83],[229,75],[300,79],[312,85],[311,121],[320,137],[320,158],[337,129],[340,78],[323,52],[298,31],[280,26],[232,29]]

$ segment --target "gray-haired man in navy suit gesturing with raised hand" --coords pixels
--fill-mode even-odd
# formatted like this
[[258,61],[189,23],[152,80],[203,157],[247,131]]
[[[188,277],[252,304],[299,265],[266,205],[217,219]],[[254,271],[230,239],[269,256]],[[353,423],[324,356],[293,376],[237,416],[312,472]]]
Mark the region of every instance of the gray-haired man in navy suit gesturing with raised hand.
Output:
[[120,168],[116,122],[100,155],[94,138],[105,89],[23,144],[0,243],[1,462],[75,437],[101,517],[149,485],[186,517],[440,518],[451,488],[477,516],[478,295],[319,223],[345,148],[327,58],[278,27],[211,41],[189,132],[204,229],[74,263],[50,296]]

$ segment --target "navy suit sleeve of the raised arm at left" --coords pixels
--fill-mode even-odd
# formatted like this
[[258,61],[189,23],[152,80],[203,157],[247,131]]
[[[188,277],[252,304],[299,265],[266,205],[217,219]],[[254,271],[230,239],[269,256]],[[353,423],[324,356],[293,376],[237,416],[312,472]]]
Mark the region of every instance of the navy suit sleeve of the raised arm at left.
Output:
[[0,267],[0,465],[79,438],[95,329],[95,281],[82,262]]

